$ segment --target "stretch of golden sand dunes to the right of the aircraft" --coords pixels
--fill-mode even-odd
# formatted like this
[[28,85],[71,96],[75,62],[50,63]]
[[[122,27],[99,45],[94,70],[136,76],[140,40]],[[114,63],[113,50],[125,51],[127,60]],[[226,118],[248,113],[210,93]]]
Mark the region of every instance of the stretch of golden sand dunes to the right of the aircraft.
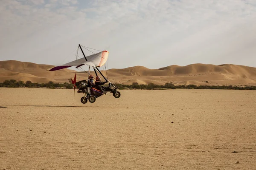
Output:
[[150,82],[154,84],[173,82],[176,85],[256,85],[256,68],[232,64],[171,65],[159,69],[136,66],[110,69],[108,76],[113,77],[116,82],[124,84],[130,84],[130,82],[144,82],[146,84]]

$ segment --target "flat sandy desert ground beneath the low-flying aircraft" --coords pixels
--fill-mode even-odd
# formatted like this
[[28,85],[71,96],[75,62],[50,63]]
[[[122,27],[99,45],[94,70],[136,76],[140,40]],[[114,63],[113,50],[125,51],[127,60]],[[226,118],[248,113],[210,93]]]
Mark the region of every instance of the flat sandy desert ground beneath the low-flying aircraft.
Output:
[[0,88],[0,170],[256,169],[256,91]]

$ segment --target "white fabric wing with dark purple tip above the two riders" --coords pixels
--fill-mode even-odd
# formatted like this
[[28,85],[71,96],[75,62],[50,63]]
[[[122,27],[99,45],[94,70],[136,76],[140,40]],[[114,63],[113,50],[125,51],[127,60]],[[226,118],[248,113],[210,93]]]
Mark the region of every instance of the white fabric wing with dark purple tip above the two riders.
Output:
[[69,68],[72,66],[76,66],[76,68],[78,68],[85,64],[93,66],[93,67],[101,67],[102,65],[104,65],[107,62],[108,54],[109,54],[108,51],[101,51],[99,53],[87,56],[86,57],[87,61],[85,58],[77,59],[72,62],[68,62],[64,65],[59,65],[54,68],[51,68],[49,71],[56,71],[56,70],[60,70],[63,68]]

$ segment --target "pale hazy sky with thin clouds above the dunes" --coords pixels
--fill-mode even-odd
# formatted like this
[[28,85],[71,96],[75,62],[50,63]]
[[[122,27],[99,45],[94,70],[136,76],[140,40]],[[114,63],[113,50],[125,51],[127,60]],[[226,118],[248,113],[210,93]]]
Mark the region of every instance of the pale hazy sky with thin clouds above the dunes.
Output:
[[1,0],[0,60],[62,65],[79,44],[108,69],[256,67],[256,0]]

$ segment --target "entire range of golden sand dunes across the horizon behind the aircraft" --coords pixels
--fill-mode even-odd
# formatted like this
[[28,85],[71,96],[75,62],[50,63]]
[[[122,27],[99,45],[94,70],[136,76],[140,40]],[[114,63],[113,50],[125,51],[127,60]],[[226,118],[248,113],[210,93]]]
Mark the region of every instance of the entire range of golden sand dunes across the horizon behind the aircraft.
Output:
[[[68,82],[77,73],[77,79],[86,79],[87,74],[69,69],[47,71],[54,65],[40,65],[15,60],[0,61],[0,82],[16,79],[45,83]],[[94,74],[94,72],[92,73]],[[105,71],[103,74],[106,75]],[[256,85],[256,68],[243,65],[191,64],[186,66],[170,65],[159,69],[135,66],[123,69],[109,69],[108,78],[116,83],[139,84],[154,83],[163,85],[173,82],[175,85]]]

